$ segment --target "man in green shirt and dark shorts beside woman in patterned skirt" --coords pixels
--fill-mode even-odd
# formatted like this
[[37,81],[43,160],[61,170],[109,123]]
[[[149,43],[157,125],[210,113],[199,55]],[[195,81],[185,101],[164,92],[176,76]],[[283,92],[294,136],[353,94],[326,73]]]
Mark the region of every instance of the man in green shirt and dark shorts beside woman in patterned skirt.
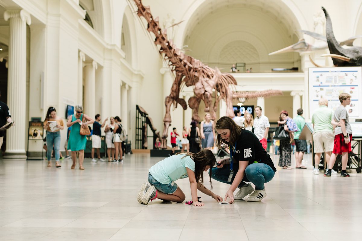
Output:
[[302,166],[302,160],[304,152],[307,151],[307,141],[300,140],[299,135],[303,130],[306,121],[303,118],[303,109],[299,108],[296,113],[298,114],[293,120],[298,127],[298,131],[294,132],[294,141],[295,141],[295,168],[306,169],[306,167]]

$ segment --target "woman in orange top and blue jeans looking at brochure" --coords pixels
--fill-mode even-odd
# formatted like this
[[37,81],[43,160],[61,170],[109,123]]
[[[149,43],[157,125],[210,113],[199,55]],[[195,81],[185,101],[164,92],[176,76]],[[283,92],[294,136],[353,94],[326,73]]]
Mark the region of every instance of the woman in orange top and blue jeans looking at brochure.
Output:
[[46,130],[46,143],[49,147],[47,150],[48,167],[51,167],[51,151],[54,145],[55,167],[61,167],[59,164],[60,148],[60,130],[64,129],[63,119],[56,115],[56,109],[49,107],[44,120],[44,129]]

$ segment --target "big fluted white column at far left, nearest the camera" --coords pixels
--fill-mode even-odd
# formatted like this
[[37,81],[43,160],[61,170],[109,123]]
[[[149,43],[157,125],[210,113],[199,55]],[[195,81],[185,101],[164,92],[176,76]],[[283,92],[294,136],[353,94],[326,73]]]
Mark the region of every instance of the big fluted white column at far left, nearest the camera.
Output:
[[8,106],[15,126],[7,132],[4,158],[26,158],[26,24],[30,14],[21,9],[7,9],[4,20],[9,20]]

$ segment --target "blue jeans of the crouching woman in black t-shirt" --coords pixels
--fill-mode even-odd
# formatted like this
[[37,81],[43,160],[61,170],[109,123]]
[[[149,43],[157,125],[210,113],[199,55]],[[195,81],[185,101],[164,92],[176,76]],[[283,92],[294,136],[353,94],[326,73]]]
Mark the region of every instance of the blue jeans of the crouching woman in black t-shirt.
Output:
[[[232,184],[234,181],[237,170],[239,169],[239,164],[234,163],[233,170],[234,175],[231,178],[231,182],[228,182],[230,175],[230,164],[224,165],[223,168],[212,168],[211,178],[216,181]],[[238,188],[241,188],[245,185],[245,182],[252,182],[255,185],[256,190],[263,190],[264,183],[269,182],[274,177],[274,170],[267,164],[264,163],[253,163],[245,168],[245,173],[243,180],[240,182]]]

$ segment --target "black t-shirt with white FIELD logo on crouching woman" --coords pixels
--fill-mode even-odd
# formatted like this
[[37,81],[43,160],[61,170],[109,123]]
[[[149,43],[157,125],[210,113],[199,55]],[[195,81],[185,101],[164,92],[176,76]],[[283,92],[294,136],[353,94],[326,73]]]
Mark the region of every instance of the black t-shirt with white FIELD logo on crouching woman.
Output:
[[268,152],[265,151],[261,145],[259,139],[249,130],[242,130],[239,139],[234,146],[231,146],[233,159],[235,162],[238,161],[249,161],[249,164],[253,164],[255,161],[258,163],[265,163],[273,168],[274,172],[277,171],[274,167],[273,161],[270,159]]

